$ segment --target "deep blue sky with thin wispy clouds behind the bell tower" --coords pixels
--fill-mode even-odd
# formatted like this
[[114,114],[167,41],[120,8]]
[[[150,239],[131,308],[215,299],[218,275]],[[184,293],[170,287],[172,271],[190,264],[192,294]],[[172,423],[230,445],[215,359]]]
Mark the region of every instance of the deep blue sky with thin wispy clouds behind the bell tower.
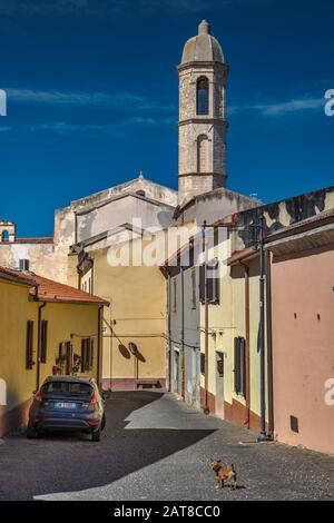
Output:
[[228,187],[273,201],[334,185],[332,0],[0,0],[0,217],[135,178],[177,186],[179,63],[207,18],[230,67]]

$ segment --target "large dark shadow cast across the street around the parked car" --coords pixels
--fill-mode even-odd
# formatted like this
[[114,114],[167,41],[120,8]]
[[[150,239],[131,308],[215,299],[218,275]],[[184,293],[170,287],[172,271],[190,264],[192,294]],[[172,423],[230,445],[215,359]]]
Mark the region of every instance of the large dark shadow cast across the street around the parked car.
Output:
[[110,484],[165,458],[214,430],[126,430],[126,418],[158,401],[157,392],[112,393],[106,403],[107,427],[100,443],[79,436],[8,438],[0,447],[0,500],[31,500]]

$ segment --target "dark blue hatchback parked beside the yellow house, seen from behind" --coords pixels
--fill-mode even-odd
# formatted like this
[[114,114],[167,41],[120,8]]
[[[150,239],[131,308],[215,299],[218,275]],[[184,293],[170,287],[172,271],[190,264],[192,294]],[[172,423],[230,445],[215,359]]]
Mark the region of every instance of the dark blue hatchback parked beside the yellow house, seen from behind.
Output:
[[35,393],[27,437],[69,431],[91,434],[91,440],[99,442],[105,424],[105,401],[95,379],[52,376]]

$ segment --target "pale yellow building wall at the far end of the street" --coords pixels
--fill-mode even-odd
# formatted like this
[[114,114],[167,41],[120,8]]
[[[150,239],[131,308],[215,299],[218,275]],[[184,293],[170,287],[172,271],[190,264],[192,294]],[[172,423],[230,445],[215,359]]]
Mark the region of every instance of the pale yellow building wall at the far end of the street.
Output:
[[[164,241],[164,231],[159,236]],[[81,288],[94,289],[111,303],[104,312],[106,389],[166,384],[166,284],[159,264],[143,259],[154,241],[140,236],[115,246],[95,245],[78,265]],[[122,248],[129,257],[114,264],[111,257]]]

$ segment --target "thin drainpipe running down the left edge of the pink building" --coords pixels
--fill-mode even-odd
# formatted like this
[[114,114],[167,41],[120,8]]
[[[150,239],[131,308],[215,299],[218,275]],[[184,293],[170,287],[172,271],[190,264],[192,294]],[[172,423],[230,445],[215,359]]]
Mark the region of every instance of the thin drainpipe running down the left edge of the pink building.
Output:
[[267,365],[268,365],[268,432],[274,435],[274,389],[273,389],[273,315],[272,315],[272,256],[266,256],[266,315],[267,315]]

